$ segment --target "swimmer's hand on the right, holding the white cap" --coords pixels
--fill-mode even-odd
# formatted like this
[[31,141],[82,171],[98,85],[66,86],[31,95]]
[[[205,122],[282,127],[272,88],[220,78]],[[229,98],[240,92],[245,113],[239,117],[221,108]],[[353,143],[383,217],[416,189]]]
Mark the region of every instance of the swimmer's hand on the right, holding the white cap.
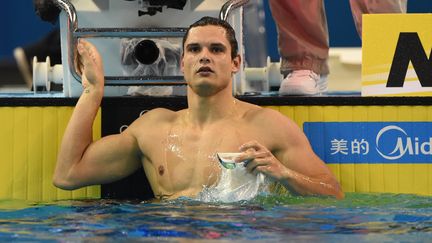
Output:
[[272,177],[275,180],[281,180],[283,173],[287,168],[263,145],[257,141],[250,141],[240,146],[243,152],[235,161],[249,161],[246,169],[253,174],[259,172]]

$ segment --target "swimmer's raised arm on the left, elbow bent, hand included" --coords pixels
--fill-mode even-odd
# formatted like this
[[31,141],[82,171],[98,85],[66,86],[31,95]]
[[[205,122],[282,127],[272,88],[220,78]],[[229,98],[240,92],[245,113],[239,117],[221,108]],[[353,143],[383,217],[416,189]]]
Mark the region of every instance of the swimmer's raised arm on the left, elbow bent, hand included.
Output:
[[78,54],[83,93],[66,127],[53,177],[62,189],[114,181],[140,166],[140,150],[129,132],[93,142],[92,126],[104,91],[103,63],[87,41],[79,41]]

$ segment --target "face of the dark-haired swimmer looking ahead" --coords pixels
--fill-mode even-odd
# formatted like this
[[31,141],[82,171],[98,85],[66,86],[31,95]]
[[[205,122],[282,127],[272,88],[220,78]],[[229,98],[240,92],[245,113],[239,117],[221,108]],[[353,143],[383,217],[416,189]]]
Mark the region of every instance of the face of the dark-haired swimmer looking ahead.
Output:
[[227,88],[231,92],[232,75],[239,68],[240,56],[231,58],[231,46],[224,28],[207,25],[190,29],[181,69],[195,93],[210,96]]

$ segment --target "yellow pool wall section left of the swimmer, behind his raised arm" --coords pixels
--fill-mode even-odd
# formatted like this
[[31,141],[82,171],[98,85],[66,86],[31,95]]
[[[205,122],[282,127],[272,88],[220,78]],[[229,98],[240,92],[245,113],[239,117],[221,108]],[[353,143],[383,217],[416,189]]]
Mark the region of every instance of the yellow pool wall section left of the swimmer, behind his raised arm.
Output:
[[[0,107],[0,199],[99,198],[100,186],[64,191],[52,176],[73,107]],[[100,138],[100,112],[93,130]]]

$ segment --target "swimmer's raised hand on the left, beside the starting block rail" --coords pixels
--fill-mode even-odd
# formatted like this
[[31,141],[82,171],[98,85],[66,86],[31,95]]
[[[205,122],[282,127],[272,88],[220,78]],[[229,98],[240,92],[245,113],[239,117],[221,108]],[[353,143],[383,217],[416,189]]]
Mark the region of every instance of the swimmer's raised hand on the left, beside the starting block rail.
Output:
[[76,70],[81,75],[85,92],[89,92],[90,87],[98,90],[103,89],[103,63],[96,47],[90,42],[80,39],[78,40],[77,50]]

